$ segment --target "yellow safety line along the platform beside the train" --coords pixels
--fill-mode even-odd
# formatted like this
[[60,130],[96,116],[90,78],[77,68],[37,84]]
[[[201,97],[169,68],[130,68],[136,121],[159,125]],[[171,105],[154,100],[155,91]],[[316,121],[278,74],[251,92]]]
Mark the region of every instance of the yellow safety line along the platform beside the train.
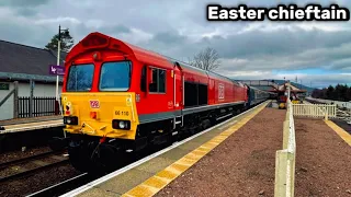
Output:
[[230,135],[237,131],[240,127],[247,124],[250,119],[252,119],[258,113],[260,113],[268,103],[254,109],[251,114],[247,115],[240,121],[238,121],[233,127],[227,130],[220,132],[218,136],[214,137],[206,143],[200,146],[197,149],[188,153],[173,164],[169,165],[165,170],[158,172],[152,177],[146,179],[144,183],[137,185],[132,188],[127,193],[125,193],[124,197],[137,197],[137,196],[154,196],[158,192],[160,192],[165,186],[176,179],[179,175],[190,169],[193,164],[195,164],[200,159],[202,159],[205,154],[207,154],[211,150],[222,143],[225,139],[227,139]]

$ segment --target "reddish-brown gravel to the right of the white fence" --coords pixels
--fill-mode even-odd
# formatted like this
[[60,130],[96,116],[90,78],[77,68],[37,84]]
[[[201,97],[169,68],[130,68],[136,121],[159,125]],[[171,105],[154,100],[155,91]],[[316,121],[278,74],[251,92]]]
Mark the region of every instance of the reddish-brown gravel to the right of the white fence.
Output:
[[351,196],[351,148],[322,120],[295,119],[295,196]]

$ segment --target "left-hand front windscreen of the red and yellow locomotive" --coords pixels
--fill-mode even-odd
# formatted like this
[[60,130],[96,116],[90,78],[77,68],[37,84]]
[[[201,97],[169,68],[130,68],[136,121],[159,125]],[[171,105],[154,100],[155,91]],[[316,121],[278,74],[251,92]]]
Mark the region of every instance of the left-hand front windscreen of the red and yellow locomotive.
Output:
[[89,92],[94,76],[94,65],[72,65],[67,78],[67,92]]

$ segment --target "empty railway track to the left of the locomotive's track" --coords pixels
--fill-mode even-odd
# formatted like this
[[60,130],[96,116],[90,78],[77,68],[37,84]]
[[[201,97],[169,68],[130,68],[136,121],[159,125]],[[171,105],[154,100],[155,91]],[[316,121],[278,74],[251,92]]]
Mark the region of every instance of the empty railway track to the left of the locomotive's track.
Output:
[[35,174],[47,167],[68,163],[65,151],[45,152],[0,164],[0,184]]

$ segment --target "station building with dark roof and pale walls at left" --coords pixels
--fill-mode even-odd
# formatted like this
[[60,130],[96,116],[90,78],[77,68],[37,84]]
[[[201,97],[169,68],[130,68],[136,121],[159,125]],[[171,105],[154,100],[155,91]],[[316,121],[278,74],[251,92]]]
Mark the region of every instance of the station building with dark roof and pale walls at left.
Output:
[[[60,57],[64,65],[66,53]],[[0,120],[55,114],[56,76],[49,65],[56,63],[57,51],[0,40]],[[59,93],[61,83],[59,77]]]

